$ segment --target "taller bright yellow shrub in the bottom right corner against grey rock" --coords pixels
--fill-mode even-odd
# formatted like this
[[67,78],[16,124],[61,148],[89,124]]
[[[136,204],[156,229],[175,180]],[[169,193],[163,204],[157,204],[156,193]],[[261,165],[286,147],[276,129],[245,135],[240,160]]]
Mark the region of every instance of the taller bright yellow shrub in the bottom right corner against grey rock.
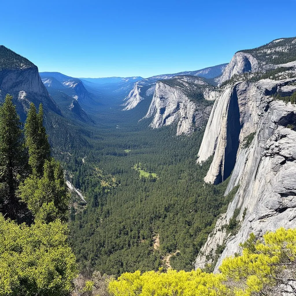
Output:
[[257,241],[251,234],[241,246],[242,255],[224,259],[219,269],[229,281],[239,283],[235,295],[249,296],[284,283],[281,272],[296,261],[296,229],[280,228]]

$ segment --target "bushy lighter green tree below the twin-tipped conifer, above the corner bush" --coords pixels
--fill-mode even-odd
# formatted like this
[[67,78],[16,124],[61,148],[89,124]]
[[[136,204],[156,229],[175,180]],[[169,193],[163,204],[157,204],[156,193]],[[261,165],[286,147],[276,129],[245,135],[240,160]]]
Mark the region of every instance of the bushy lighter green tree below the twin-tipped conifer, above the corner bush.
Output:
[[45,160],[41,178],[30,175],[20,186],[20,197],[29,210],[45,222],[59,218],[67,220],[69,194],[64,179],[64,171],[53,158]]

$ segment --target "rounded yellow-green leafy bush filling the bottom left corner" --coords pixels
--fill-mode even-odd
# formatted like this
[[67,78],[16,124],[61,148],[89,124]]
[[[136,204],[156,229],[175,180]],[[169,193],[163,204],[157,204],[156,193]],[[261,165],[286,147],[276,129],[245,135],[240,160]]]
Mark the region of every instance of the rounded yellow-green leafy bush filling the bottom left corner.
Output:
[[0,214],[0,295],[69,295],[78,269],[67,225],[17,225]]

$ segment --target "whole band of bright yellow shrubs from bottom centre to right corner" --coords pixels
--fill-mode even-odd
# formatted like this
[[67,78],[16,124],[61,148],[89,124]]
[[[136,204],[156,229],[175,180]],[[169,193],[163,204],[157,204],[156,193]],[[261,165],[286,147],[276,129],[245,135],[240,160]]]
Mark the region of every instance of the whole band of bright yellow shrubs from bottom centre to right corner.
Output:
[[[109,284],[113,296],[251,296],[281,283],[296,261],[296,229],[280,228],[241,245],[242,255],[223,260],[220,274],[169,269],[124,273]],[[294,272],[294,271],[293,271]]]

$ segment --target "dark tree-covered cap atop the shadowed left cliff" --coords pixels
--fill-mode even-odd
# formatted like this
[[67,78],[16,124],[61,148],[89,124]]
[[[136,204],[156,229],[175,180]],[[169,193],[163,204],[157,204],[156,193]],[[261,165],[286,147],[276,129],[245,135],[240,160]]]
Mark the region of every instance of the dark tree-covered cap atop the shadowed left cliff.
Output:
[[25,57],[17,54],[11,49],[0,45],[0,71],[2,70],[24,70],[36,67]]

